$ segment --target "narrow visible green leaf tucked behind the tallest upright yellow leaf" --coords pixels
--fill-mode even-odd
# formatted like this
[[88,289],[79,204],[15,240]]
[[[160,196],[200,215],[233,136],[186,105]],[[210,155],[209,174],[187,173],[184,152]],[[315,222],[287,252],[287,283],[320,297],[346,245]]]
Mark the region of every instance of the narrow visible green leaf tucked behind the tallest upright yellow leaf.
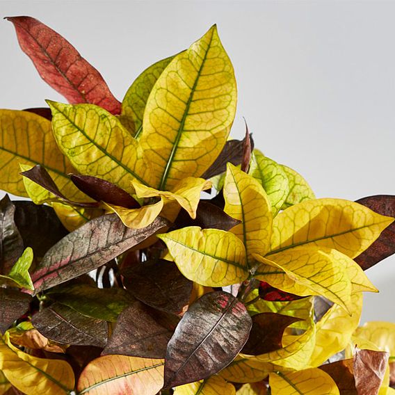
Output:
[[175,56],[169,56],[147,67],[131,84],[122,100],[122,116],[131,119],[134,124],[134,138],[139,138],[143,131],[145,104],[159,76]]

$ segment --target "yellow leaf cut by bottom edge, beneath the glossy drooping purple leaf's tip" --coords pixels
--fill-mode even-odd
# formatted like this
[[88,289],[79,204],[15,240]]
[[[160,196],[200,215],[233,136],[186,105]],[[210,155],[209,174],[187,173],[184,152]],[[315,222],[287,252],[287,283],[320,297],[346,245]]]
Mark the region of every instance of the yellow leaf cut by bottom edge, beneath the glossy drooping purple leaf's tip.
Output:
[[175,388],[175,395],[236,395],[236,389],[220,376],[191,382]]

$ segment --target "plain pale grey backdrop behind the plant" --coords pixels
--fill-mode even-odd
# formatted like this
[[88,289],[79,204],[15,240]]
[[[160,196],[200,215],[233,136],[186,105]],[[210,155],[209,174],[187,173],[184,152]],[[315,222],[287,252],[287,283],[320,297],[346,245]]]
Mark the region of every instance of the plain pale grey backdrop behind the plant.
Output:
[[[298,170],[317,197],[395,195],[395,2],[1,1],[70,40],[122,100],[145,67],[185,49],[216,23],[236,71],[256,147]],[[64,102],[0,20],[0,108]],[[366,272],[363,321],[395,322],[395,258]]]

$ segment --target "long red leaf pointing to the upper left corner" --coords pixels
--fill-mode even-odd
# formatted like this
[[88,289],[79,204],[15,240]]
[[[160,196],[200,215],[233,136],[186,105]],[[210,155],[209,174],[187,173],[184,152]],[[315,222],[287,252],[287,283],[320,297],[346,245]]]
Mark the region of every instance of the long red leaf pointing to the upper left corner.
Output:
[[45,24],[32,17],[7,17],[13,22],[22,51],[41,78],[70,103],[92,103],[119,114],[121,104],[100,73],[78,51]]

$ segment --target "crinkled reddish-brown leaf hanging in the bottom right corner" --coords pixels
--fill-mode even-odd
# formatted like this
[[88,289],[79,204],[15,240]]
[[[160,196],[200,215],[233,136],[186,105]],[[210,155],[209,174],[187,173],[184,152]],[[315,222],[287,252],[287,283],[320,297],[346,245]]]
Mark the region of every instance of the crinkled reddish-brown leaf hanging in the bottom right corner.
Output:
[[387,369],[389,353],[355,350],[354,378],[358,395],[377,394]]

